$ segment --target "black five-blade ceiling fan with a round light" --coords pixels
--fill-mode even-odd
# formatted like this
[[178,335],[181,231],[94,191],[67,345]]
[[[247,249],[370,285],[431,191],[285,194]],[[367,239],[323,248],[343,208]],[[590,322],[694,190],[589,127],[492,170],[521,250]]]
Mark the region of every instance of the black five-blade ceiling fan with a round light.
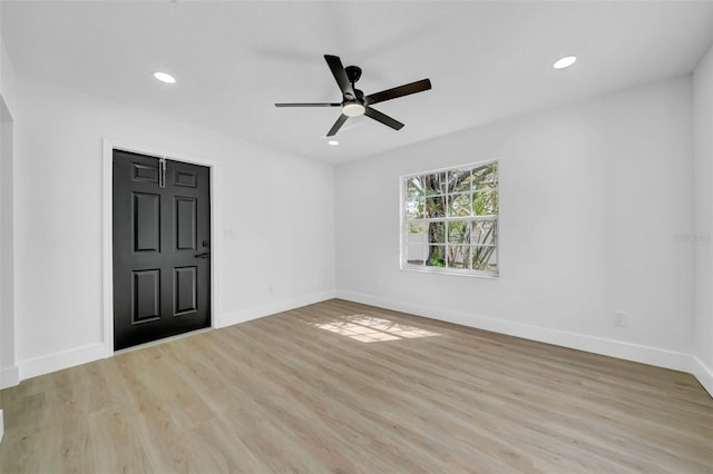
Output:
[[403,128],[403,124],[380,112],[371,106],[383,102],[384,100],[395,99],[397,97],[422,92],[431,88],[431,81],[422,79],[416,82],[394,87],[392,89],[382,90],[381,92],[364,96],[364,92],[354,88],[354,82],[356,82],[361,77],[361,68],[356,66],[348,66],[344,68],[342,66],[342,60],[339,59],[338,56],[324,55],[324,59],[326,60],[326,63],[342,91],[341,102],[275,103],[275,107],[341,107],[342,113],[339,116],[330,131],[326,132],[328,137],[336,135],[348,118],[359,117],[362,115],[391,127],[394,130],[401,130],[401,128]]

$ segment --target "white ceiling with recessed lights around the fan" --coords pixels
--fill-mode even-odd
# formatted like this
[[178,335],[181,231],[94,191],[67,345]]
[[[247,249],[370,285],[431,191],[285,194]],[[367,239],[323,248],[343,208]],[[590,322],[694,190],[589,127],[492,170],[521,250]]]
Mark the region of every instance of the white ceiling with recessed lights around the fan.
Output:
[[[692,71],[713,43],[713,1],[245,2],[7,1],[2,37],[19,75],[343,162],[536,108]],[[406,124],[350,119],[326,145],[341,101],[323,55],[363,69]],[[570,69],[554,60],[577,55]],[[178,82],[164,86],[152,72]]]

